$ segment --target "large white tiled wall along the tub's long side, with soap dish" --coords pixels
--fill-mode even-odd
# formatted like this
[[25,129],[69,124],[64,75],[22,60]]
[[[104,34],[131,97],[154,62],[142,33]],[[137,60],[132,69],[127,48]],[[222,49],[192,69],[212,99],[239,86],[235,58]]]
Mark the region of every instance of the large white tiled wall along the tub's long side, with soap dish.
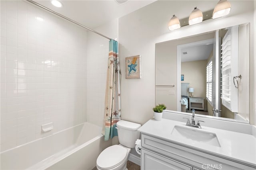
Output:
[[3,151],[86,121],[87,63],[85,29],[28,2],[0,3]]

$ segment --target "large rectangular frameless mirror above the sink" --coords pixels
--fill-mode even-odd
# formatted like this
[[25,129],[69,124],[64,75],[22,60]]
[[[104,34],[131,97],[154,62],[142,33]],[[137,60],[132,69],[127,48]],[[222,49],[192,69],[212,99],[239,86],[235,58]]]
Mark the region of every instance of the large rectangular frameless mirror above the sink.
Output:
[[156,104],[248,123],[248,101],[249,23],[156,44]]

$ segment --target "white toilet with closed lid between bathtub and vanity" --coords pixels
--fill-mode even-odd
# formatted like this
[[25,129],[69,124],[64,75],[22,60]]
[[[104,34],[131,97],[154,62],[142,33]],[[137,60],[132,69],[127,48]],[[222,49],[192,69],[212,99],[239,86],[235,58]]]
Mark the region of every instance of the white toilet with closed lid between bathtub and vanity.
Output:
[[116,123],[119,145],[112,145],[104,149],[97,158],[98,170],[127,170],[126,163],[136,139],[140,139],[137,131],[141,125],[130,121],[120,120]]

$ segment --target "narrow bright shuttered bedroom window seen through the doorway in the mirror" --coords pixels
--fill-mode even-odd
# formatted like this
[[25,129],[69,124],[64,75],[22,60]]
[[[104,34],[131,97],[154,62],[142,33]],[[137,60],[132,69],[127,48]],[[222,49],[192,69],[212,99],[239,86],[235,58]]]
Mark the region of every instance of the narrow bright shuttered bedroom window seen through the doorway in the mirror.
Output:
[[206,100],[212,105],[212,59],[206,65]]

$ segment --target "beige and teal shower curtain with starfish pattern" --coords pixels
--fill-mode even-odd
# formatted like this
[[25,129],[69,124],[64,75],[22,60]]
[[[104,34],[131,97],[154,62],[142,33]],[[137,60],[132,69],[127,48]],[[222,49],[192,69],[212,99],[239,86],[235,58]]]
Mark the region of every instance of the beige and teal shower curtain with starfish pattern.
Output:
[[121,119],[120,107],[120,66],[118,58],[118,42],[109,41],[108,73],[105,97],[105,132],[104,140],[117,136],[116,123]]

